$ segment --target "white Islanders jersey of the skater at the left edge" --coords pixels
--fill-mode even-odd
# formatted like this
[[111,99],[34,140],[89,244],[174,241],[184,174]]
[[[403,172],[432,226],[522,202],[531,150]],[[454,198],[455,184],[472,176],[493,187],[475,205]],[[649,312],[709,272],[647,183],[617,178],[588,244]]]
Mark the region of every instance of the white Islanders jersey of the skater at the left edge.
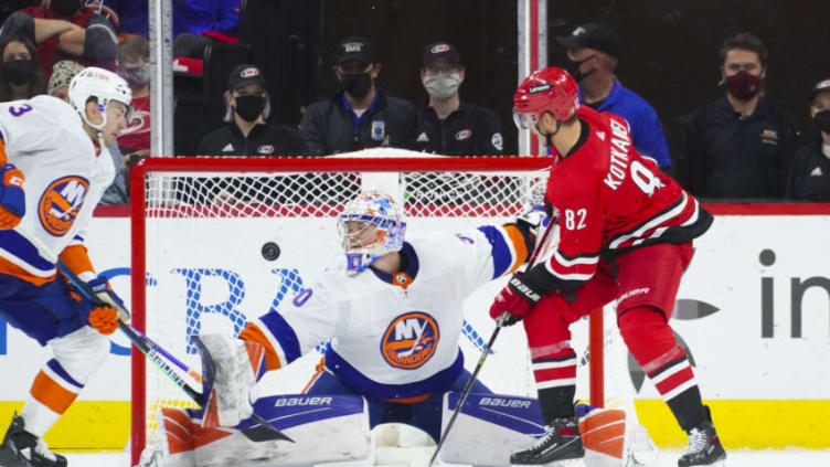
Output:
[[96,155],[72,106],[51,96],[0,106],[3,150],[25,176],[25,215],[14,231],[0,231],[0,273],[43,284],[54,277],[55,266],[35,245],[58,255],[83,243],[83,227],[115,167],[108,155]]

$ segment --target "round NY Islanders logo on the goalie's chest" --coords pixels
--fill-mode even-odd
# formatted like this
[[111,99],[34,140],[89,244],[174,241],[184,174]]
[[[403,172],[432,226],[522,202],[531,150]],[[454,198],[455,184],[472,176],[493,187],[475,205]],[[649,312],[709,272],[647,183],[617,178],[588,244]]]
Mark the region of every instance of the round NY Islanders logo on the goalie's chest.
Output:
[[405,312],[393,319],[381,341],[389,364],[414,370],[429,360],[438,347],[438,322],[423,311]]

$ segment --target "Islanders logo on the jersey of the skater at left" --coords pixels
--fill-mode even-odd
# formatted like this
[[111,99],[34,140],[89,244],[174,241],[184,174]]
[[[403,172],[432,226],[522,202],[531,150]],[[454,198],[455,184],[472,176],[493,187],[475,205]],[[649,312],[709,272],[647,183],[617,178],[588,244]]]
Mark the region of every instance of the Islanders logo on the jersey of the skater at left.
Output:
[[53,181],[38,203],[43,229],[54,236],[66,235],[88,192],[89,182],[83,177],[68,176]]

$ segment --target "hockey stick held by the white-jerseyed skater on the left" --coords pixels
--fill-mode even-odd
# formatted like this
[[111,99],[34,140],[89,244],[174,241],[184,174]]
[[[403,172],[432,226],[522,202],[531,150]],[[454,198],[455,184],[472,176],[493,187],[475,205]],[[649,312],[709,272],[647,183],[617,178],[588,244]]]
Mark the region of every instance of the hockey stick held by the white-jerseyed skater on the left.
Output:
[[[124,320],[120,317],[120,314],[121,312],[126,314],[127,310],[118,306],[118,304],[105,303],[100,297],[98,297],[95,294],[95,291],[89,287],[89,285],[81,280],[81,278],[72,269],[70,269],[68,266],[66,266],[66,264],[63,261],[57,259],[55,265],[61,270],[61,273],[63,273],[63,275],[66,276],[66,278],[72,283],[72,285],[75,286],[78,290],[81,290],[81,293],[84,294],[86,298],[92,300],[93,304],[97,306],[106,306],[106,307],[115,308],[116,311],[119,312],[118,329],[120,329],[127,336],[130,342],[132,342],[138,348],[138,350],[140,350],[141,353],[143,353],[147,357],[147,359],[150,360],[156,365],[156,368],[161,370],[161,372],[164,373],[164,375],[167,375],[170,379],[170,381],[173,382],[173,384],[175,384],[177,386],[179,386],[179,389],[184,391],[184,393],[188,394],[193,400],[193,402],[195,402],[200,406],[205,405],[209,394],[199,392],[195,389],[193,389],[190,384],[188,384],[188,382],[184,381],[184,379],[181,375],[179,375],[179,373],[177,373],[174,369],[170,368],[170,365],[167,363],[167,361],[164,361],[162,355],[168,358],[177,367],[188,372],[188,374],[193,376],[196,381],[201,382],[202,375],[199,374],[198,371],[192,370],[187,364],[182,363],[179,359],[170,354],[170,352],[164,350],[161,346],[150,340],[150,338],[148,338],[147,336],[142,335],[138,329],[124,322]],[[129,316],[129,314],[127,314],[127,316]],[[260,417],[256,413],[251,414],[251,418],[253,418],[255,422],[264,426],[267,429],[267,432],[270,432],[270,436],[268,436],[267,434],[263,434],[262,431],[255,431],[256,439],[252,438],[252,441],[263,442],[263,441],[283,439],[283,441],[288,441],[288,442],[294,443],[294,439],[286,436],[283,432],[274,427],[274,425],[268,423],[268,421]],[[242,433],[245,436],[248,436],[247,429],[243,429]],[[251,438],[251,436],[248,437]]]

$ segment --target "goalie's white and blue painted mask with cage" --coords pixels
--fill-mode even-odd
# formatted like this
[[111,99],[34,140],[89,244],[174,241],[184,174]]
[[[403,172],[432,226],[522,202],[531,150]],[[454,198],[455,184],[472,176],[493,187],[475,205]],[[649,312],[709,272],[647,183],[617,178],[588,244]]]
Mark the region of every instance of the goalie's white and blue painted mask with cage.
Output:
[[347,273],[358,274],[386,253],[400,251],[405,230],[391,197],[368,191],[349,201],[338,219]]

